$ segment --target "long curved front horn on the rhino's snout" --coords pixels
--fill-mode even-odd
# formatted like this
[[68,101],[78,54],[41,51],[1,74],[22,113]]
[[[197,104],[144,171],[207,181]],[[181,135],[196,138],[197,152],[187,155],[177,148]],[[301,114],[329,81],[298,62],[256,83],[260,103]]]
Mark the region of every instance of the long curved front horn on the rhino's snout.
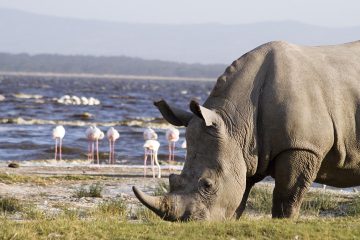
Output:
[[139,201],[148,207],[151,211],[156,213],[159,217],[168,221],[175,221],[177,219],[176,216],[173,216],[169,212],[167,196],[162,197],[153,197],[149,196],[141,190],[137,189],[137,187],[133,186],[133,191],[135,196],[139,199]]

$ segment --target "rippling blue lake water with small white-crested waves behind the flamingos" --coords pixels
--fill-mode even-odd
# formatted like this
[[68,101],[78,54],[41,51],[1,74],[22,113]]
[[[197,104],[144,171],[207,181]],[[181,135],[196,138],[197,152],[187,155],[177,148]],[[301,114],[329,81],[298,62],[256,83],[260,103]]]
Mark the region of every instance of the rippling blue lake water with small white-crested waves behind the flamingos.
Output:
[[[54,158],[52,129],[64,125],[64,159],[87,159],[85,130],[96,124],[102,131],[114,126],[120,132],[116,143],[117,162],[139,164],[143,158],[143,130],[151,126],[161,143],[159,159],[167,159],[165,131],[168,125],[153,101],[164,98],[187,108],[192,98],[203,102],[214,82],[113,80],[57,77],[0,77],[0,161]],[[56,101],[64,95],[96,98],[100,105],[64,105]],[[89,113],[90,118],[83,116]],[[185,150],[180,129],[176,160],[183,161]],[[100,142],[103,161],[108,142]]]

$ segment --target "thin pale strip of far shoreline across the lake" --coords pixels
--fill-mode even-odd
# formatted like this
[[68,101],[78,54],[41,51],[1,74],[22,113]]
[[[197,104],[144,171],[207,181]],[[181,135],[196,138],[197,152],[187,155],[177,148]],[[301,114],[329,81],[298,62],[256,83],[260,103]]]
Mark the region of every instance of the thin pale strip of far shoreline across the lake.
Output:
[[216,78],[206,77],[176,77],[176,76],[144,76],[126,74],[97,74],[97,73],[55,73],[55,72],[11,72],[0,71],[0,76],[16,77],[58,77],[58,78],[92,78],[92,79],[114,79],[114,80],[172,80],[172,81],[207,81],[215,82]]

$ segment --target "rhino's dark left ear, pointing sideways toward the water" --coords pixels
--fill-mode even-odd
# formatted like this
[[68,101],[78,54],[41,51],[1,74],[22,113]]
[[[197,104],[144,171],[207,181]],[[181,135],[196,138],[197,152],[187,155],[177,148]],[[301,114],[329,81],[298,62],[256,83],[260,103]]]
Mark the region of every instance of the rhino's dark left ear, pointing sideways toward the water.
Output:
[[154,105],[159,109],[166,121],[175,126],[187,127],[190,119],[193,117],[192,113],[176,107],[170,107],[163,99],[155,101]]

